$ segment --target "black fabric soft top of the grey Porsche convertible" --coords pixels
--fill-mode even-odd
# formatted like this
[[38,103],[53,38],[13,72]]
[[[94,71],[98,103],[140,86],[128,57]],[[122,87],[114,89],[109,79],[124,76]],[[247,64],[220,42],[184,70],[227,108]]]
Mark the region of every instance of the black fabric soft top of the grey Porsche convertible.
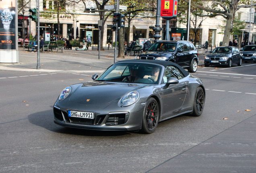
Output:
[[185,76],[188,76],[188,74],[189,74],[189,72],[186,71],[184,68],[182,68],[178,64],[171,62],[171,61],[165,61],[165,60],[121,60],[116,63],[119,63],[119,62],[144,62],[144,63],[151,63],[151,64],[159,64],[164,67],[172,65],[172,66],[176,66],[177,68],[179,68]]

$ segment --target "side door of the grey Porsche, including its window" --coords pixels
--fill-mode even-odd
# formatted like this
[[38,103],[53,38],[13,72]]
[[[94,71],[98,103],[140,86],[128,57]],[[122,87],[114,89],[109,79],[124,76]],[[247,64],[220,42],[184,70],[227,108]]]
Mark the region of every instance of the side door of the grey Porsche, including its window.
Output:
[[170,84],[166,87],[166,83],[162,84],[161,101],[163,105],[162,119],[171,116],[179,111],[184,103],[187,93],[187,83],[184,74],[175,66],[167,66],[164,71],[163,78],[177,78],[178,84]]

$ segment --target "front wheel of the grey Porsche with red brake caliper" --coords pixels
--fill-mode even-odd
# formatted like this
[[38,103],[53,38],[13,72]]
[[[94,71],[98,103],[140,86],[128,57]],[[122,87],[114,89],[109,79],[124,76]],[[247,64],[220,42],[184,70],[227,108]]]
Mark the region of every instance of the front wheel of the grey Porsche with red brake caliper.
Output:
[[153,133],[157,128],[159,115],[160,111],[158,103],[151,97],[145,104],[140,132],[146,134]]

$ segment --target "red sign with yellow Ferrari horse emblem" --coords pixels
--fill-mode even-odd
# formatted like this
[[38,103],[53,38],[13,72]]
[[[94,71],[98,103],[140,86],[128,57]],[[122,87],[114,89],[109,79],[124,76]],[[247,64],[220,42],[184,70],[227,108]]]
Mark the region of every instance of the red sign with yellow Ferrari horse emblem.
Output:
[[178,0],[161,0],[160,16],[166,20],[170,20],[177,16]]

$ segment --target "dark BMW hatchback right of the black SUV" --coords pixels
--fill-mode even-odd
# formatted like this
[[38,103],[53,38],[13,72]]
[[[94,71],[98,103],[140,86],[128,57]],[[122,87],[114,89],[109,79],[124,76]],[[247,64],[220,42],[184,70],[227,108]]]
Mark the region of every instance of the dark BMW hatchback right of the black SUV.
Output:
[[204,66],[225,65],[231,67],[232,64],[242,65],[242,55],[238,48],[231,46],[221,46],[215,48],[204,58]]

